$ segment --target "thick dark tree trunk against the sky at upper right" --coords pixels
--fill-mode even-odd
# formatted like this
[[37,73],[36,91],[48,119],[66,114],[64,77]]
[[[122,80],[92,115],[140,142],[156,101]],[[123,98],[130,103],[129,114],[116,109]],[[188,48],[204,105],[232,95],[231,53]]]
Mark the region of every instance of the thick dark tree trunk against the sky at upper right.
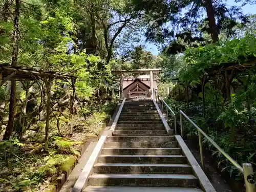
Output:
[[207,12],[207,20],[210,28],[210,35],[213,42],[219,41],[218,28],[215,22],[215,10],[211,0],[205,0],[205,8]]

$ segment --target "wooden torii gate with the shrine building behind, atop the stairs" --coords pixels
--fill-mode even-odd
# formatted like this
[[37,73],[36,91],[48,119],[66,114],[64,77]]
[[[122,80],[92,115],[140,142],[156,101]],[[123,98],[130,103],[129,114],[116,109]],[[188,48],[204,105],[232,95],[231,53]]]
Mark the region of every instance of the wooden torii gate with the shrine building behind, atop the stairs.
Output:
[[[154,74],[161,69],[136,69],[136,70],[114,70],[113,73],[120,74],[119,96],[120,98],[150,97],[153,90],[157,89],[157,78]],[[124,78],[127,73],[147,73],[138,77]]]

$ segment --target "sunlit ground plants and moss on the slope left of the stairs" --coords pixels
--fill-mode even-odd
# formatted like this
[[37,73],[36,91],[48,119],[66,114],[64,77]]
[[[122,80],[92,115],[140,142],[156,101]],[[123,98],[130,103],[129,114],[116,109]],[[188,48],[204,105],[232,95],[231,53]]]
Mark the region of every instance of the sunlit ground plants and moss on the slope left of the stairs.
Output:
[[[0,191],[51,191],[59,176],[75,164],[87,138],[99,134],[115,105],[105,108],[106,112],[94,112],[86,121],[79,116],[74,117],[72,134],[70,120],[63,120],[62,137],[53,121],[48,151],[44,150],[44,134],[40,132],[33,134],[29,140],[13,138],[1,141]],[[41,124],[44,127],[44,123]]]

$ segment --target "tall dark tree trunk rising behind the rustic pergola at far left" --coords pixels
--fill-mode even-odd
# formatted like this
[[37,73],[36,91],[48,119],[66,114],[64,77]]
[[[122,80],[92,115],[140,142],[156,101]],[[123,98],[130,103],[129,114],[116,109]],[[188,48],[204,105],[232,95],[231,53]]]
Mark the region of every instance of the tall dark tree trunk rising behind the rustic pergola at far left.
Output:
[[[13,30],[13,44],[12,44],[12,66],[17,65],[18,58],[18,18],[19,18],[19,0],[15,0],[15,11],[14,11],[14,30]],[[11,95],[10,95],[10,106],[9,106],[9,119],[6,127],[4,140],[8,140],[11,137],[14,127],[15,117],[15,92],[16,92],[16,81],[15,78],[11,81]]]

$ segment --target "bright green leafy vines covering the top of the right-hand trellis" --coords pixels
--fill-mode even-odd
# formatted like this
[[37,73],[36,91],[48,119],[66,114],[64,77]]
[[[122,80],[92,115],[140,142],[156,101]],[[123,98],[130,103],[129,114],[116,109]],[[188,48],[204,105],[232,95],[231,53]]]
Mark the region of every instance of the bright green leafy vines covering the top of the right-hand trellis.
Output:
[[256,37],[247,34],[241,39],[234,38],[223,45],[207,45],[199,48],[187,49],[184,55],[188,64],[195,64],[193,68],[203,70],[212,65],[223,62],[244,62],[255,57]]

